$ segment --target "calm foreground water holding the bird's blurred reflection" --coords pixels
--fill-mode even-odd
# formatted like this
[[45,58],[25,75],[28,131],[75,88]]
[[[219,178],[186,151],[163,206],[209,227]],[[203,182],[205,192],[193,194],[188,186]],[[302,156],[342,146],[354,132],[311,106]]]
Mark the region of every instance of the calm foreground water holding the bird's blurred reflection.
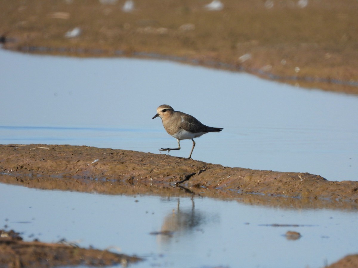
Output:
[[[358,252],[357,210],[285,209],[238,200],[100,195],[0,184],[0,223],[26,240],[118,248],[133,267],[323,267]],[[179,204],[179,209],[178,209]],[[6,220],[5,220],[6,219]],[[298,224],[271,227],[267,224]],[[175,230],[172,237],[151,235]],[[288,230],[300,232],[287,240]]]

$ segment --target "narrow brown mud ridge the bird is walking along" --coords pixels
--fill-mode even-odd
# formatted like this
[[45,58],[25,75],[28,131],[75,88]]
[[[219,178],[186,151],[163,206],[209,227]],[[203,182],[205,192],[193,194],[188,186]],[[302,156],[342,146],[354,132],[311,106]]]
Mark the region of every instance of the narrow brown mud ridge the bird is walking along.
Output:
[[[0,145],[0,173],[6,183],[107,194],[182,191],[222,198],[256,194],[299,198],[306,203],[358,203],[358,182],[332,182],[309,173],[231,168],[165,154],[87,146]],[[173,187],[190,174],[190,179],[180,184],[182,188]]]

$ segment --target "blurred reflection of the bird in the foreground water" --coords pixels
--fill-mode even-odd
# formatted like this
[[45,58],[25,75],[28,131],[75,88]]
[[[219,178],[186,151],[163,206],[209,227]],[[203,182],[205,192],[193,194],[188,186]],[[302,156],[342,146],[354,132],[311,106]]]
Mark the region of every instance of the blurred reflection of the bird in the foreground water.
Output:
[[185,233],[195,230],[200,224],[205,223],[203,212],[195,212],[194,198],[192,197],[191,209],[180,209],[180,199],[173,212],[168,214],[163,221],[160,232],[158,232],[158,242],[168,243],[172,237],[179,237]]

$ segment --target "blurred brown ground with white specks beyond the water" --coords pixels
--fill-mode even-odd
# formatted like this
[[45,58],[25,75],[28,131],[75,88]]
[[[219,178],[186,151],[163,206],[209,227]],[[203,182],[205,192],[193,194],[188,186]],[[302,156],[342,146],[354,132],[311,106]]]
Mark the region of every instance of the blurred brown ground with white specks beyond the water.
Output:
[[[2,0],[5,48],[75,56],[154,56],[358,94],[358,1]],[[101,4],[112,2],[112,4]],[[78,27],[81,34],[66,38]]]

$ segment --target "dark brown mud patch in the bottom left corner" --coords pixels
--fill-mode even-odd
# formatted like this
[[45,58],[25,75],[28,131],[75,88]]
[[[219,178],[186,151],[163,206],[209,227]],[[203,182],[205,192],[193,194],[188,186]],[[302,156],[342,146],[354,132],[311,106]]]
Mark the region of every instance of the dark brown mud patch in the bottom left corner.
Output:
[[42,268],[58,266],[87,265],[102,267],[106,265],[129,263],[141,260],[107,250],[85,249],[67,243],[25,242],[13,230],[0,230],[0,267]]

